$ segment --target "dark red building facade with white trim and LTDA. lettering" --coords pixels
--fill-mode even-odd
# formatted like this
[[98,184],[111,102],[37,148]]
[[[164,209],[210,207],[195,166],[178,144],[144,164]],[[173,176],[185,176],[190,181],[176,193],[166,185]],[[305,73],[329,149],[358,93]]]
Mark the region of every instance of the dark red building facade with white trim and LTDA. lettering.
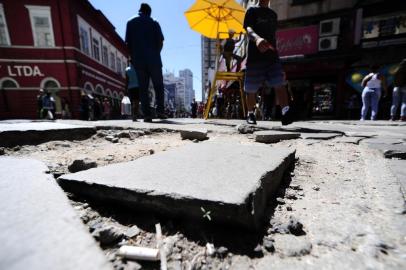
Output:
[[114,26],[87,0],[0,1],[0,118],[37,118],[39,89],[57,116],[83,95],[118,110],[128,53]]

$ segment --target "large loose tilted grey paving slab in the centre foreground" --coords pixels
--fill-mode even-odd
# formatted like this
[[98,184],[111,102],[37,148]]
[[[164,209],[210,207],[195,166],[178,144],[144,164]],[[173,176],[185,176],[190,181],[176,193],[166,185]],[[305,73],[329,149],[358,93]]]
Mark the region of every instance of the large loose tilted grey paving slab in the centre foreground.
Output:
[[[66,190],[141,210],[262,225],[266,203],[295,150],[232,143],[189,144],[135,161],[63,175]],[[204,209],[204,210],[203,210]]]

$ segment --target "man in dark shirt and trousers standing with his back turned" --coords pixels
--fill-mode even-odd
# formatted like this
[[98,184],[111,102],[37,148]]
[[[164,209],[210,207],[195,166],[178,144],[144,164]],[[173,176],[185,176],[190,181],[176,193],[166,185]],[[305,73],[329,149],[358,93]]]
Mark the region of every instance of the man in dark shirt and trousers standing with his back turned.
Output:
[[161,50],[164,36],[159,23],[151,18],[152,9],[142,3],[138,16],[127,22],[125,41],[131,63],[137,70],[144,122],[152,122],[148,95],[149,81],[152,80],[157,104],[157,117],[166,119],[164,107],[164,83],[162,76]]

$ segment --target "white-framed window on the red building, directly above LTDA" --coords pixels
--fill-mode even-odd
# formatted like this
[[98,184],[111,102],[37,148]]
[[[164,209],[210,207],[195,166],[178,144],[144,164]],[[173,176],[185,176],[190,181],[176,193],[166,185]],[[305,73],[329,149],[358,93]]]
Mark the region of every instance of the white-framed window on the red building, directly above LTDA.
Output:
[[26,6],[36,47],[55,47],[51,9],[46,6]]

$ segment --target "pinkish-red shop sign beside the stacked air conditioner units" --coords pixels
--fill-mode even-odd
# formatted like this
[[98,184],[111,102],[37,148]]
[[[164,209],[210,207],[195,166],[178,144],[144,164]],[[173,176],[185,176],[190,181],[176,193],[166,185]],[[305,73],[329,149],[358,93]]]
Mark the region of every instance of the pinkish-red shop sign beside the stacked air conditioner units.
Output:
[[318,52],[319,26],[278,31],[276,39],[280,56],[315,54]]

